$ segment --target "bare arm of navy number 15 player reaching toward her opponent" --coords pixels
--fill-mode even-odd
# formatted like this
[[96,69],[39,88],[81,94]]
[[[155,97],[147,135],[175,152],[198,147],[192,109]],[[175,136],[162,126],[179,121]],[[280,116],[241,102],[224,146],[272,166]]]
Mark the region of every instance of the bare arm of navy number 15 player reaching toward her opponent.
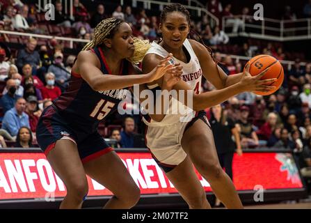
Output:
[[154,69],[143,75],[103,75],[100,68],[100,61],[90,51],[82,51],[78,54],[77,61],[72,68],[74,72],[79,73],[81,77],[88,82],[94,91],[106,91],[112,89],[122,89],[134,84],[143,84],[161,78],[166,72],[175,70],[172,65],[166,65],[166,59],[162,59],[157,63]]

